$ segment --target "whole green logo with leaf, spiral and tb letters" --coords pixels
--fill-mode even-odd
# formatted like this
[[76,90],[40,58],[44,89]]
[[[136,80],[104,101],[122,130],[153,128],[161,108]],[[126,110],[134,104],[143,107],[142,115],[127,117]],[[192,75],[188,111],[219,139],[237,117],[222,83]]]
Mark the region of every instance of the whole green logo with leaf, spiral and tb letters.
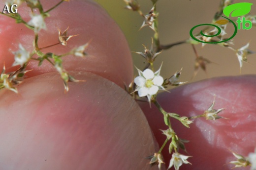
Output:
[[[198,40],[192,34],[193,30],[196,27],[203,26],[203,25],[210,25],[210,26],[214,26],[214,27],[216,27],[218,29],[218,32],[216,34],[214,34],[214,35],[205,35],[202,31],[200,32],[200,34],[202,36],[204,36],[204,37],[215,37],[215,36],[218,36],[221,33],[221,28],[219,26],[215,25],[215,24],[199,24],[199,25],[196,25],[196,26],[192,27],[192,29],[190,30],[190,36],[195,41],[198,41],[200,43],[207,43],[207,44],[217,44],[217,43],[223,43],[225,41],[229,41],[229,40],[231,40],[236,35],[237,30],[241,29],[241,23],[242,23],[242,28],[243,29],[251,29],[252,28],[253,24],[252,24],[251,21],[245,20],[245,17],[242,17],[242,20],[241,20],[241,17],[240,17],[240,16],[248,14],[251,11],[251,6],[252,5],[253,5],[253,3],[240,2],[240,3],[231,4],[231,5],[229,5],[229,6],[224,8],[223,14],[226,17],[224,17],[224,16],[221,16],[221,17],[225,18],[226,20],[223,19],[223,20],[216,21],[215,24],[222,24],[223,25],[223,24],[227,24],[228,22],[232,23],[235,30],[234,30],[233,35],[230,38],[225,39],[223,41],[218,41],[218,42],[205,42],[205,41]],[[230,14],[231,14],[231,17],[238,17],[237,21],[236,21],[238,26],[236,26],[236,24],[232,20],[230,20],[228,18]],[[246,24],[249,24],[249,26],[246,26]]]

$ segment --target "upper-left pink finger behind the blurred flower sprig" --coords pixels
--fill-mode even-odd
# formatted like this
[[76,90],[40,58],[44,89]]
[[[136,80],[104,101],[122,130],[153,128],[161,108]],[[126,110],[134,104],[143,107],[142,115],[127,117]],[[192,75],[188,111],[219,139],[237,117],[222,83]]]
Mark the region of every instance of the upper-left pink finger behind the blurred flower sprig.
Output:
[[[57,2],[59,0],[41,1],[45,11]],[[0,1],[0,6],[4,6],[4,0]],[[31,20],[29,11],[30,8],[26,4],[18,8],[18,12],[27,22]],[[62,3],[49,14],[51,17],[45,20],[47,30],[39,32],[38,46],[40,48],[58,43],[58,28],[64,32],[69,26],[67,35],[79,34],[79,36],[68,40],[67,47],[57,45],[43,49],[43,52],[64,54],[90,41],[90,46],[86,49],[90,55],[86,58],[64,57],[64,68],[67,71],[96,73],[122,88],[131,82],[133,66],[128,44],[118,25],[106,14],[104,9],[91,0],[70,0],[70,2]],[[7,69],[11,69],[10,66],[14,61],[11,51],[16,51],[19,43],[25,49],[32,51],[34,33],[23,24],[16,24],[15,20],[5,16],[0,17],[0,23],[1,39],[5,40],[0,46],[0,60],[5,62],[6,67],[8,66]],[[37,65],[37,61],[30,63],[28,70],[33,69],[33,72],[28,73],[28,76],[55,71],[55,68],[47,62],[40,67]],[[0,63],[0,68],[2,66],[3,62]]]

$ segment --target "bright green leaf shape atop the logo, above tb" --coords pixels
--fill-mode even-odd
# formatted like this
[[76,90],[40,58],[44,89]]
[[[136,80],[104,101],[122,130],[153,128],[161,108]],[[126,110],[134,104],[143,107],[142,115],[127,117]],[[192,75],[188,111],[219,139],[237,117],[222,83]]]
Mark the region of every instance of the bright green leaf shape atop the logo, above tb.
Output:
[[252,5],[253,3],[249,2],[234,3],[232,5],[225,7],[223,13],[227,17],[229,17],[230,13],[232,13],[231,17],[240,17],[248,14],[251,11]]

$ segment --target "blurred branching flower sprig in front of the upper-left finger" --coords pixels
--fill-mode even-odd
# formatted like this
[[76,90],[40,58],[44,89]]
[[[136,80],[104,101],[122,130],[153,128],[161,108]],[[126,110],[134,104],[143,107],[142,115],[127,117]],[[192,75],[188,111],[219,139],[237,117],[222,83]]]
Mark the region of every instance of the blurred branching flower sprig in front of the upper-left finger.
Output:
[[23,2],[27,3],[27,6],[31,8],[31,20],[29,22],[26,22],[23,20],[21,15],[13,15],[13,14],[4,14],[7,17],[10,17],[12,19],[15,19],[17,23],[23,23],[28,28],[32,29],[34,31],[34,42],[33,42],[33,50],[31,52],[27,51],[21,44],[19,44],[19,49],[17,51],[12,52],[14,54],[14,63],[12,66],[20,66],[20,68],[14,72],[14,73],[5,73],[5,67],[3,68],[2,73],[0,74],[0,89],[6,88],[9,89],[15,93],[18,93],[17,88],[15,87],[16,84],[20,83],[23,80],[23,76],[26,71],[26,67],[28,66],[28,63],[30,60],[36,60],[38,61],[38,66],[40,66],[44,61],[48,61],[51,65],[53,65],[56,70],[60,73],[63,81],[64,81],[64,88],[65,92],[68,91],[68,81],[78,82],[79,80],[76,80],[73,78],[70,74],[68,74],[64,68],[63,68],[63,61],[61,57],[65,55],[74,55],[78,57],[84,57],[87,55],[85,52],[86,48],[88,47],[88,43],[85,45],[79,46],[77,48],[74,48],[70,50],[69,52],[62,54],[62,55],[56,55],[54,53],[48,52],[43,53],[41,49],[46,49],[52,46],[56,45],[67,45],[67,41],[77,35],[70,35],[67,36],[67,30],[68,27],[62,32],[58,28],[58,34],[59,34],[59,43],[50,45],[47,47],[39,48],[38,47],[38,32],[41,29],[46,30],[46,23],[45,18],[49,17],[50,15],[48,12],[56,8],[58,5],[60,5],[63,1],[69,1],[69,0],[62,0],[57,5],[50,8],[48,11],[44,12],[43,7],[39,0],[7,0],[5,4],[7,5],[13,5],[17,4],[17,6],[21,5]]

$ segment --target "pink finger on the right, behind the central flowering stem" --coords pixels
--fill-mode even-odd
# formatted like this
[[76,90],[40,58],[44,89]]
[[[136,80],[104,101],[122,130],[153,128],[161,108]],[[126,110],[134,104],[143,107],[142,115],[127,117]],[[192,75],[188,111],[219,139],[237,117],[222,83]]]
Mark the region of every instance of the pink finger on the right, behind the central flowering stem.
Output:
[[[179,121],[171,120],[178,137],[187,139],[188,160],[192,165],[183,165],[180,170],[230,170],[234,165],[228,162],[235,157],[228,150],[247,156],[256,147],[256,76],[220,77],[204,80],[176,88],[171,93],[158,96],[161,106],[181,116],[200,115],[211,105],[214,94],[214,109],[226,108],[219,116],[228,118],[206,121],[198,118],[190,129]],[[155,106],[140,103],[159,144],[165,140],[159,129],[165,130],[163,117]],[[163,151],[166,163],[171,158],[168,145]],[[249,170],[250,168],[243,168]],[[174,169],[172,169],[174,170]],[[238,169],[239,170],[239,169]]]

